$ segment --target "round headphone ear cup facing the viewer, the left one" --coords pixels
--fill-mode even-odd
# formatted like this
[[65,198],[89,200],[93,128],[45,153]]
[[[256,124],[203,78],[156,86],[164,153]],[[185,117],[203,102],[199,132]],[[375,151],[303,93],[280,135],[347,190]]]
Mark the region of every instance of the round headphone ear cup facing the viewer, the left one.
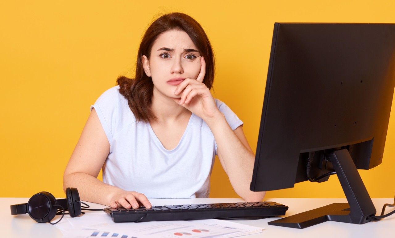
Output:
[[45,223],[55,218],[58,208],[54,205],[56,205],[56,199],[51,193],[36,193],[27,203],[27,212],[35,221]]

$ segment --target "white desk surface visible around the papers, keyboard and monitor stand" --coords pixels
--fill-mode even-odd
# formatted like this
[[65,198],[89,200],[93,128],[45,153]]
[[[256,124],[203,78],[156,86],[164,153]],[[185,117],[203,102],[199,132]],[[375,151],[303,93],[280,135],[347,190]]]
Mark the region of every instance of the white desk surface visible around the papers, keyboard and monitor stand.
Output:
[[[37,223],[28,214],[11,216],[10,205],[27,203],[28,198],[0,198],[0,227],[1,237],[32,237],[42,238],[62,237],[62,232],[54,225],[49,223]],[[384,203],[393,203],[393,198],[372,199],[376,207],[377,214],[380,215]],[[233,203],[242,202],[242,199],[150,199],[153,206],[169,204],[198,204],[198,203]],[[286,216],[291,216],[299,212],[304,212],[331,203],[346,203],[346,199],[270,199],[289,206]],[[91,208],[104,208],[105,206],[96,203],[88,203]],[[391,208],[387,208],[390,211]],[[92,211],[87,211],[92,212]],[[100,211],[99,211],[100,212]],[[68,216],[68,215],[65,215]],[[83,215],[82,215],[83,216]],[[379,222],[368,222],[363,225],[340,223],[327,221],[305,229],[294,229],[267,225],[268,221],[278,218],[265,218],[259,220],[239,220],[232,221],[256,227],[265,227],[260,234],[245,236],[248,238],[256,237],[319,237],[319,238],[342,238],[342,237],[394,237],[395,234],[395,215],[382,219]]]

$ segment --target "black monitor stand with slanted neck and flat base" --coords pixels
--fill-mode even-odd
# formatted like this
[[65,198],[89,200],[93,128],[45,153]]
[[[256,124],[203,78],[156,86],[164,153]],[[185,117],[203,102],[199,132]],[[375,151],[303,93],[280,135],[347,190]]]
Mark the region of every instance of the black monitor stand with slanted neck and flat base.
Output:
[[332,162],[348,203],[333,203],[276,221],[270,221],[268,222],[269,225],[305,228],[325,221],[354,224],[363,224],[370,221],[367,216],[375,215],[376,208],[374,208],[372,199],[363,184],[350,153],[346,149],[334,151],[328,154],[328,160]]

